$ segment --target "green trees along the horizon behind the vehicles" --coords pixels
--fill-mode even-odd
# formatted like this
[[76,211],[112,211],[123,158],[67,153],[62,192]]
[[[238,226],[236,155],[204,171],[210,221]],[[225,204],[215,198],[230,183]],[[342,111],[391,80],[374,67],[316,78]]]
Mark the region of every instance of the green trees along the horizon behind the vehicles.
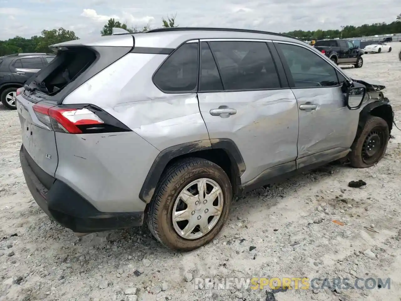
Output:
[[[169,16],[162,19],[163,27],[176,27],[176,16]],[[111,35],[113,27],[123,28],[131,33],[144,32],[150,29],[150,25],[147,24],[143,28],[138,29],[136,26],[128,26],[127,23],[122,23],[111,18],[103,26],[101,35]],[[354,38],[371,35],[384,35],[391,33],[401,33],[401,14],[397,16],[397,19],[390,24],[386,23],[375,23],[375,24],[363,24],[361,26],[343,26],[342,30],[333,29],[323,31],[318,29],[316,31],[290,31],[285,33],[293,37],[300,39],[312,40],[312,39],[325,39],[325,38]],[[52,29],[50,31],[43,30],[40,36],[33,36],[30,39],[16,36],[12,39],[0,41],[0,56],[9,55],[13,53],[49,53],[49,45],[76,40],[79,39],[73,31],[68,31],[64,28]]]

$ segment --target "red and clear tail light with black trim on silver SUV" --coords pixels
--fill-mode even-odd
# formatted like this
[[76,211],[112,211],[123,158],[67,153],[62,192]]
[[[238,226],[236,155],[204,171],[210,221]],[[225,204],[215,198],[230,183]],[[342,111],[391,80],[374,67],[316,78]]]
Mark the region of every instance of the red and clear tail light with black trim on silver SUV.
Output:
[[107,112],[89,105],[72,108],[35,104],[32,108],[38,120],[55,132],[87,134],[131,131]]

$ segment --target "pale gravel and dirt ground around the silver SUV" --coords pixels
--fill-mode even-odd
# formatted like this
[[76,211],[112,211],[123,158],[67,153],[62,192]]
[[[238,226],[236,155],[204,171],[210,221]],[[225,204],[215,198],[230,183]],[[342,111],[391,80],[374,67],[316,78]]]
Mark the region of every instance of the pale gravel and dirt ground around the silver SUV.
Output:
[[[401,115],[401,43],[364,55],[354,77],[387,86]],[[396,118],[401,128],[401,118]],[[146,227],[77,239],[33,201],[18,158],[16,111],[0,104],[0,300],[273,300],[266,290],[194,290],[192,277],[391,278],[391,289],[275,292],[286,300],[400,300],[401,132],[369,169],[329,165],[234,201],[209,245],[179,254]],[[348,182],[363,179],[365,189]],[[344,223],[342,226],[332,220]],[[371,232],[365,227],[373,228]],[[249,247],[256,247],[251,252]],[[126,291],[128,290],[128,291]],[[270,289],[269,289],[270,290]],[[127,293],[127,295],[125,294]],[[267,299],[266,299],[267,298]]]

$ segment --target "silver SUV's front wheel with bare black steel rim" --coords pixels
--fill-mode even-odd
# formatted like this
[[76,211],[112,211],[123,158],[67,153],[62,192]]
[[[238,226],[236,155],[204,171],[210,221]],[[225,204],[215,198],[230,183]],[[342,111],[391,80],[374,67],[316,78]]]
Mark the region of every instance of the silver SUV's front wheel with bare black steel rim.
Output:
[[367,168],[377,164],[386,153],[389,138],[387,122],[383,118],[370,116],[351,146],[351,165]]

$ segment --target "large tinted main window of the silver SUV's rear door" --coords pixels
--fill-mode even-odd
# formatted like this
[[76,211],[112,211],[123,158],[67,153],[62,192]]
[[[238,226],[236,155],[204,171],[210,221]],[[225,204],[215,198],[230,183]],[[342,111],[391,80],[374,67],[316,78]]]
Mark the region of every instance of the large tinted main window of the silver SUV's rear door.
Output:
[[210,42],[225,90],[279,88],[269,48],[264,42]]

